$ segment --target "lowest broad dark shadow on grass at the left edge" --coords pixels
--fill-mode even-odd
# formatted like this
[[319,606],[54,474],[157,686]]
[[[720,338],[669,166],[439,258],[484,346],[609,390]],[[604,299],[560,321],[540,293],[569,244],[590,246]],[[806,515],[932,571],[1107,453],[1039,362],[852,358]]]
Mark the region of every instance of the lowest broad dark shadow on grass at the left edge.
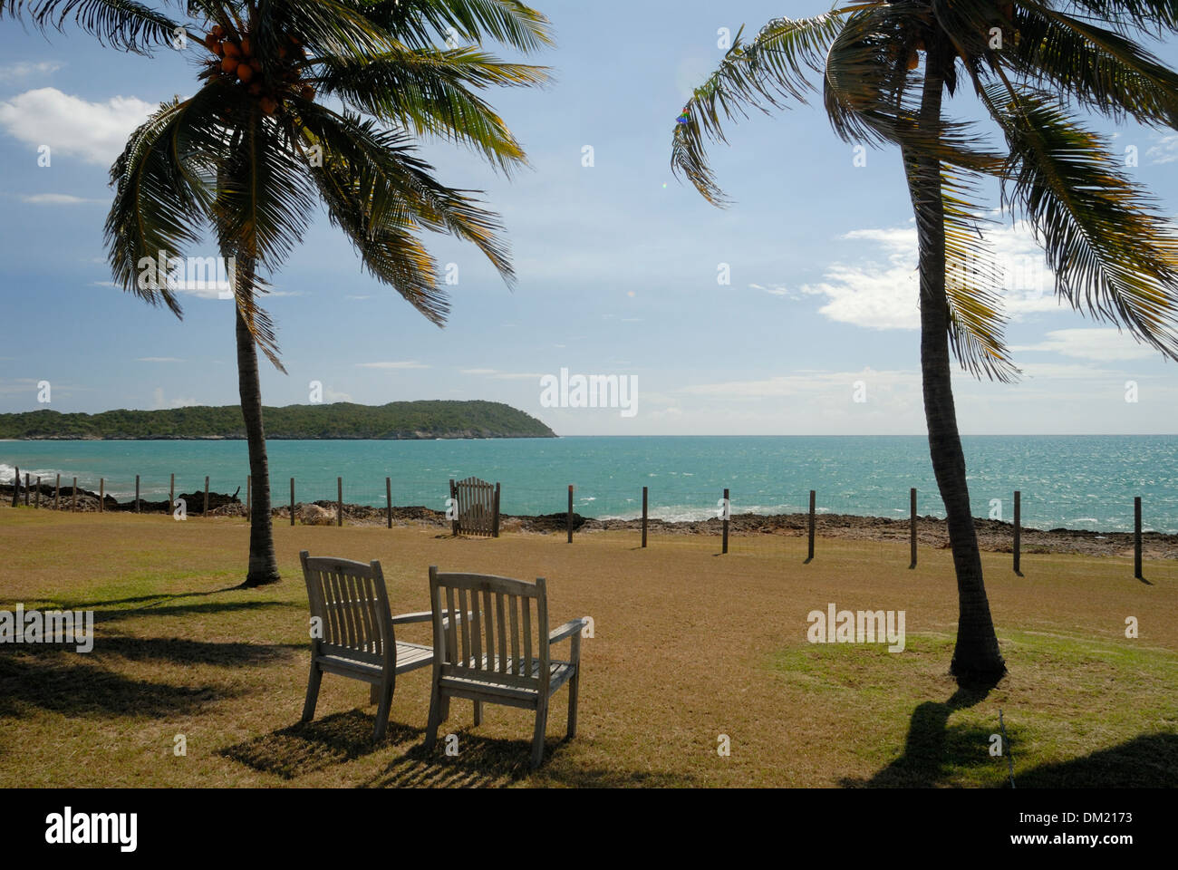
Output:
[[0,655],[0,717],[22,717],[25,706],[67,717],[191,713],[229,697],[213,686],[173,686],[133,679],[81,660],[73,650],[40,647]]

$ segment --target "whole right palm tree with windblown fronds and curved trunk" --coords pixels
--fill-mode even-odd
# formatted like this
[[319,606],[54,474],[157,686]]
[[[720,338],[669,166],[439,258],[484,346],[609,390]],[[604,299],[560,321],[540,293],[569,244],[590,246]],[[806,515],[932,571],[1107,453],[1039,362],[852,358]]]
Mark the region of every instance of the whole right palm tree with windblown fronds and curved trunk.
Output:
[[[1173,0],[859,0],[736,40],[675,125],[671,166],[715,205],[727,199],[704,153],[749,108],[806,103],[821,81],[845,141],[898,145],[916,218],[920,357],[933,472],[945,501],[959,621],[952,672],[992,685],[1006,672],[969,513],[951,355],[977,377],[1012,381],[999,271],[977,185],[1026,219],[1076,310],[1178,358],[1178,240],[1073,107],[1153,127],[1178,125],[1178,75],[1140,35],[1178,32]],[[942,104],[968,85],[1005,139]]]

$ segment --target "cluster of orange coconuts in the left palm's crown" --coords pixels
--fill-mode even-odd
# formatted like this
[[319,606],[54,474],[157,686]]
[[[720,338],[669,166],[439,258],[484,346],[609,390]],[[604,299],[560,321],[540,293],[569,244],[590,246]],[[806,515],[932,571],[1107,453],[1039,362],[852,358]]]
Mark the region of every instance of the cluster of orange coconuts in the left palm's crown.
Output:
[[213,26],[205,37],[205,47],[213,53],[209,60],[206,77],[219,78],[244,87],[266,114],[273,114],[284,97],[299,94],[305,100],[315,99],[315,88],[302,81],[299,64],[306,59],[306,50],[293,33],[286,34],[274,57],[258,57],[247,32],[227,32],[220,25]]

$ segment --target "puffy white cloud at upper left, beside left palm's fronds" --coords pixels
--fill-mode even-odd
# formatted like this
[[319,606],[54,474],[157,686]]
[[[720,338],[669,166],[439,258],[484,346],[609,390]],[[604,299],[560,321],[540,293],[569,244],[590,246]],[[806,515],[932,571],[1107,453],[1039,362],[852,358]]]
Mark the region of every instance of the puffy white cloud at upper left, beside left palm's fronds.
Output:
[[154,110],[135,97],[90,103],[55,87],[41,87],[0,101],[0,127],[33,147],[48,145],[52,156],[110,166],[131,132]]

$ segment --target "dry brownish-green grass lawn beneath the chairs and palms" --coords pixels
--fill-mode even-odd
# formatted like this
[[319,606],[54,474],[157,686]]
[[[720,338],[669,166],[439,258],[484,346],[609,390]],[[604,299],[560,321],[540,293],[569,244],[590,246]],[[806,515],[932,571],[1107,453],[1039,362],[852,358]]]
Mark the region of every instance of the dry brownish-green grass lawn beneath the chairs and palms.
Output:
[[[507,534],[454,540],[435,527],[277,525],[284,581],[232,589],[240,520],[0,508],[0,609],[95,612],[91,653],[0,647],[0,786],[1008,786],[990,753],[999,710],[1019,787],[1178,784],[1178,563],[986,553],[1010,675],[957,690],[948,663],[957,594],[948,551],[805,539]],[[554,698],[543,766],[528,771],[531,717],[455,701],[422,751],[429,670],[401,677],[373,745],[368,686],[306,687],[299,549],[379,559],[393,613],[428,608],[426,568],[548,578],[551,625],[594,618],[582,645],[577,737]],[[907,647],[809,644],[807,614],[906,613]],[[1125,637],[1136,617],[1139,637]],[[429,641],[429,625],[398,633]],[[184,734],[187,753],[173,745]],[[716,752],[730,739],[730,756]]]

